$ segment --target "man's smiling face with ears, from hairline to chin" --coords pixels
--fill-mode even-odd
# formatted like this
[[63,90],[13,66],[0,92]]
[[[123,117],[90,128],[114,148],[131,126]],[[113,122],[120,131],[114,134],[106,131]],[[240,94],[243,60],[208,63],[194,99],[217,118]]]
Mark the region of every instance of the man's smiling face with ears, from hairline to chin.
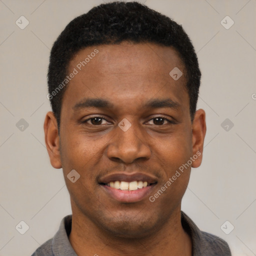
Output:
[[[183,72],[177,80],[169,75],[174,67]],[[59,136],[50,112],[44,123],[51,164],[63,168],[73,216],[121,237],[160,229],[180,210],[190,167],[201,156],[189,159],[201,154],[205,134],[203,110],[191,122],[177,52],[152,43],[92,46],[73,57],[68,74],[74,69]],[[183,172],[182,164],[189,165]],[[67,177],[72,169],[80,175],[75,182]]]

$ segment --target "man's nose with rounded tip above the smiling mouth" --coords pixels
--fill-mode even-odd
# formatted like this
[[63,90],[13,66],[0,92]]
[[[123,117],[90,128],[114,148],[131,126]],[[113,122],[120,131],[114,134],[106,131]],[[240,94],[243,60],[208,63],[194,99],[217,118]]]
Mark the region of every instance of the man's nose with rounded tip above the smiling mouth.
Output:
[[115,136],[107,147],[107,156],[124,163],[132,163],[138,158],[149,159],[151,150],[146,139],[145,134],[134,124],[126,131],[117,126]]

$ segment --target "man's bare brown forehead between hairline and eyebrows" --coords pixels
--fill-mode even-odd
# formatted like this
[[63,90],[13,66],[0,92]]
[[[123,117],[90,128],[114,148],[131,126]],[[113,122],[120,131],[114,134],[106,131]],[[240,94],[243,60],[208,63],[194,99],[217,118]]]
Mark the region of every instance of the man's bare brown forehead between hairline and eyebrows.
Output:
[[[183,73],[178,80],[169,74],[173,68]],[[64,93],[64,98],[73,102],[88,95],[132,102],[138,97],[166,97],[167,93],[178,101],[186,92],[185,68],[177,51],[153,43],[125,41],[86,47],[70,61],[68,73],[74,70]]]

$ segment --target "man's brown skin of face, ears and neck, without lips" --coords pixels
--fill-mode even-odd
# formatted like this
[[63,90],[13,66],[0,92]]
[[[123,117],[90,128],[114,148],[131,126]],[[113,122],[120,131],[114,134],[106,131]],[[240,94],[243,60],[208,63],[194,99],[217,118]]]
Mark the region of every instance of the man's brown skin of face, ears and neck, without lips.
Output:
[[[95,48],[99,52],[69,82],[62,99],[60,131],[52,112],[44,121],[45,143],[54,168],[62,168],[72,208],[69,240],[82,255],[191,255],[191,240],[180,221],[181,199],[191,167],[202,159],[205,112],[193,121],[185,88],[185,68],[177,52],[153,43],[122,42],[80,50],[69,72]],[[177,66],[183,75],[174,80]],[[68,72],[68,73],[69,73]],[[108,100],[111,108],[74,109],[84,98]],[[169,98],[176,107],[150,108],[151,99]],[[89,118],[101,124],[92,124]],[[156,117],[168,119],[156,121]],[[131,127],[118,123],[126,118]],[[153,119],[154,118],[154,119]],[[189,157],[201,152],[154,202],[148,197],[172,177]],[[80,178],[66,177],[75,169]],[[111,198],[98,184],[106,173],[142,171],[157,177],[148,196],[125,203]]]

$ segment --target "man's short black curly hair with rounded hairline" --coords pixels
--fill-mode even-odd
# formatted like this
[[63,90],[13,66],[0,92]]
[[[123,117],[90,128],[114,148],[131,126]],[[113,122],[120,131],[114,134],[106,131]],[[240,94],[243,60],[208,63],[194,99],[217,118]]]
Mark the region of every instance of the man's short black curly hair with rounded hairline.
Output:
[[[182,26],[171,18],[138,2],[110,2],[93,7],[71,20],[54,42],[48,67],[48,94],[52,111],[60,126],[63,86],[72,57],[87,46],[151,42],[172,46],[179,54],[186,72],[189,110],[193,119],[200,86],[197,56]],[[62,86],[58,86],[62,83]],[[60,89],[61,88],[61,89]]]

